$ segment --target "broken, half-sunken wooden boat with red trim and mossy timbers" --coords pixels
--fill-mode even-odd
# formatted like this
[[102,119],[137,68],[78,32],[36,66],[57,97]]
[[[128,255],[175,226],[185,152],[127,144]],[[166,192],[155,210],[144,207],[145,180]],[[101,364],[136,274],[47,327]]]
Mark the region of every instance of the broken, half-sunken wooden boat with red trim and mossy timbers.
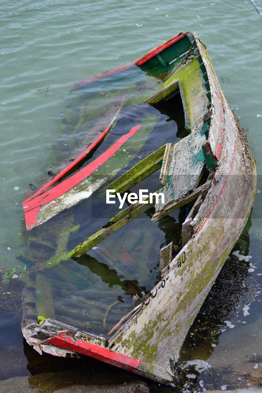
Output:
[[[70,172],[121,121],[126,99],[122,92],[117,105],[106,110],[87,134],[69,165],[67,161],[56,173],[51,172],[51,180],[44,179],[27,195],[23,203],[26,226],[31,230],[55,215],[60,217],[65,209],[89,198],[105,185],[106,189],[123,195],[161,169],[153,199],[145,197],[140,200],[142,203],[129,203],[107,220],[103,228],[82,238],[69,253],[69,259],[81,259],[89,250],[96,250],[96,246],[99,248],[105,239],[110,241],[112,234],[138,220],[149,208],[154,209],[151,220],[157,222],[175,209],[190,206],[182,225],[181,243],[170,242],[162,247],[159,281],[147,293],[135,293],[133,308],[103,336],[65,323],[52,308],[43,311],[39,301],[37,303],[41,281],[37,274],[41,272],[36,273],[30,266],[32,270],[24,290],[22,331],[27,342],[40,353],[86,354],[167,383],[173,381],[186,334],[247,221],[256,191],[256,169],[244,131],[220,88],[205,45],[196,33],[179,33],[133,64],[82,81],[76,90],[97,81],[108,83],[110,78],[116,78],[114,80],[121,85],[129,72],[136,75],[136,80],[144,77],[143,86],[147,86],[137,89],[132,96],[135,107],[132,113],[180,95],[186,136],[177,143],[170,141],[161,145],[146,157],[140,156],[129,168],[127,163],[140,152],[137,136],[143,132],[150,135],[144,123],[152,115],[144,119],[144,123],[142,120],[140,123],[140,118],[136,123],[135,117],[131,129],[87,165]],[[158,198],[158,193],[164,195],[164,201]],[[62,215],[68,230],[73,221],[65,217],[68,216]],[[112,252],[107,252],[107,261],[110,258],[114,263]],[[65,260],[68,260],[66,242],[41,269],[44,271],[50,266],[62,269]],[[32,284],[34,279],[38,286]],[[47,285],[48,297],[47,279],[44,285]]]

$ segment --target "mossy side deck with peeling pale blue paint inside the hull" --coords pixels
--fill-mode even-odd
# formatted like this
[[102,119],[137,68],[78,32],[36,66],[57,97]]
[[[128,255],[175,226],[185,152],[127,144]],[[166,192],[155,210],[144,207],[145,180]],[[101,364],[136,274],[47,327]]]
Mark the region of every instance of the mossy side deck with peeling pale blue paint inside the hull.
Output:
[[[202,145],[206,142],[204,124],[208,99],[203,85],[202,72],[196,59],[167,79],[181,79],[186,112],[188,116],[188,129],[191,134],[179,141],[166,152],[161,170],[162,192],[164,203],[156,205],[156,214],[173,201],[180,200],[189,191],[197,187],[203,167],[204,156]],[[194,86],[194,88],[192,87]]]

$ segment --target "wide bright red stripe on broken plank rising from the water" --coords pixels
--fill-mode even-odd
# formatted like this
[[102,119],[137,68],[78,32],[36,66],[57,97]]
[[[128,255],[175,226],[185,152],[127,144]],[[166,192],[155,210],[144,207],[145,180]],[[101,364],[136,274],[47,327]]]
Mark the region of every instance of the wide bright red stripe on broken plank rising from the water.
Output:
[[[85,179],[91,173],[96,171],[104,162],[106,162],[113,154],[139,129],[141,125],[137,125],[133,127],[127,134],[123,135],[114,145],[109,147],[107,151],[105,151],[101,156],[96,158],[89,165],[85,166],[81,171],[73,174],[70,178],[64,180],[60,184],[57,184],[52,189],[43,192],[41,195],[36,196],[31,200],[26,200],[22,203],[24,211],[25,211],[25,219],[26,219],[26,228],[30,228],[32,225],[34,226],[37,221],[37,213],[41,206],[44,204],[51,202],[52,200],[58,198],[63,195],[67,191],[69,191],[72,187],[79,184],[81,180]],[[38,209],[37,209],[38,208]],[[34,209],[34,211],[31,211]],[[30,213],[29,213],[30,212]]]

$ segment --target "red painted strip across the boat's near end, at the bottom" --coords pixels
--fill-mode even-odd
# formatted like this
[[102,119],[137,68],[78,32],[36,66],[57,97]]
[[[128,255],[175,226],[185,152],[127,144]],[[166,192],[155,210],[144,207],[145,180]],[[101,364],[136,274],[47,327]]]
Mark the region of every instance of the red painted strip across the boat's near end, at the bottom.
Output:
[[110,351],[110,349],[100,347],[96,344],[91,344],[81,340],[73,340],[70,337],[54,336],[51,337],[48,342],[56,345],[57,347],[70,349],[71,351],[90,356],[91,358],[124,368],[128,371],[135,370],[141,363],[141,360],[132,358],[131,356]]

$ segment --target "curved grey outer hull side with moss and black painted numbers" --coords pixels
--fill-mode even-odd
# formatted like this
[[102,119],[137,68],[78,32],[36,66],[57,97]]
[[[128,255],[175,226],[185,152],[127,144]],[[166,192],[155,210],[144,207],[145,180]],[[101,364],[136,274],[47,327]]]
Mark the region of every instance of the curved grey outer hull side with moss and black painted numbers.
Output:
[[[207,62],[204,50],[202,57]],[[210,80],[212,91],[219,92],[217,79]],[[154,377],[161,377],[155,364],[165,364],[172,370],[177,362],[188,329],[240,235],[254,200],[254,160],[238,120],[220,94],[222,105],[219,100],[213,101],[211,119],[211,127],[212,121],[216,127],[221,121],[220,108],[225,110],[218,165],[207,196],[191,222],[192,237],[164,268],[162,281],[146,296],[140,310],[109,340],[114,351],[149,359]],[[219,145],[220,129],[214,131]],[[150,337],[145,337],[145,331],[152,332]]]

